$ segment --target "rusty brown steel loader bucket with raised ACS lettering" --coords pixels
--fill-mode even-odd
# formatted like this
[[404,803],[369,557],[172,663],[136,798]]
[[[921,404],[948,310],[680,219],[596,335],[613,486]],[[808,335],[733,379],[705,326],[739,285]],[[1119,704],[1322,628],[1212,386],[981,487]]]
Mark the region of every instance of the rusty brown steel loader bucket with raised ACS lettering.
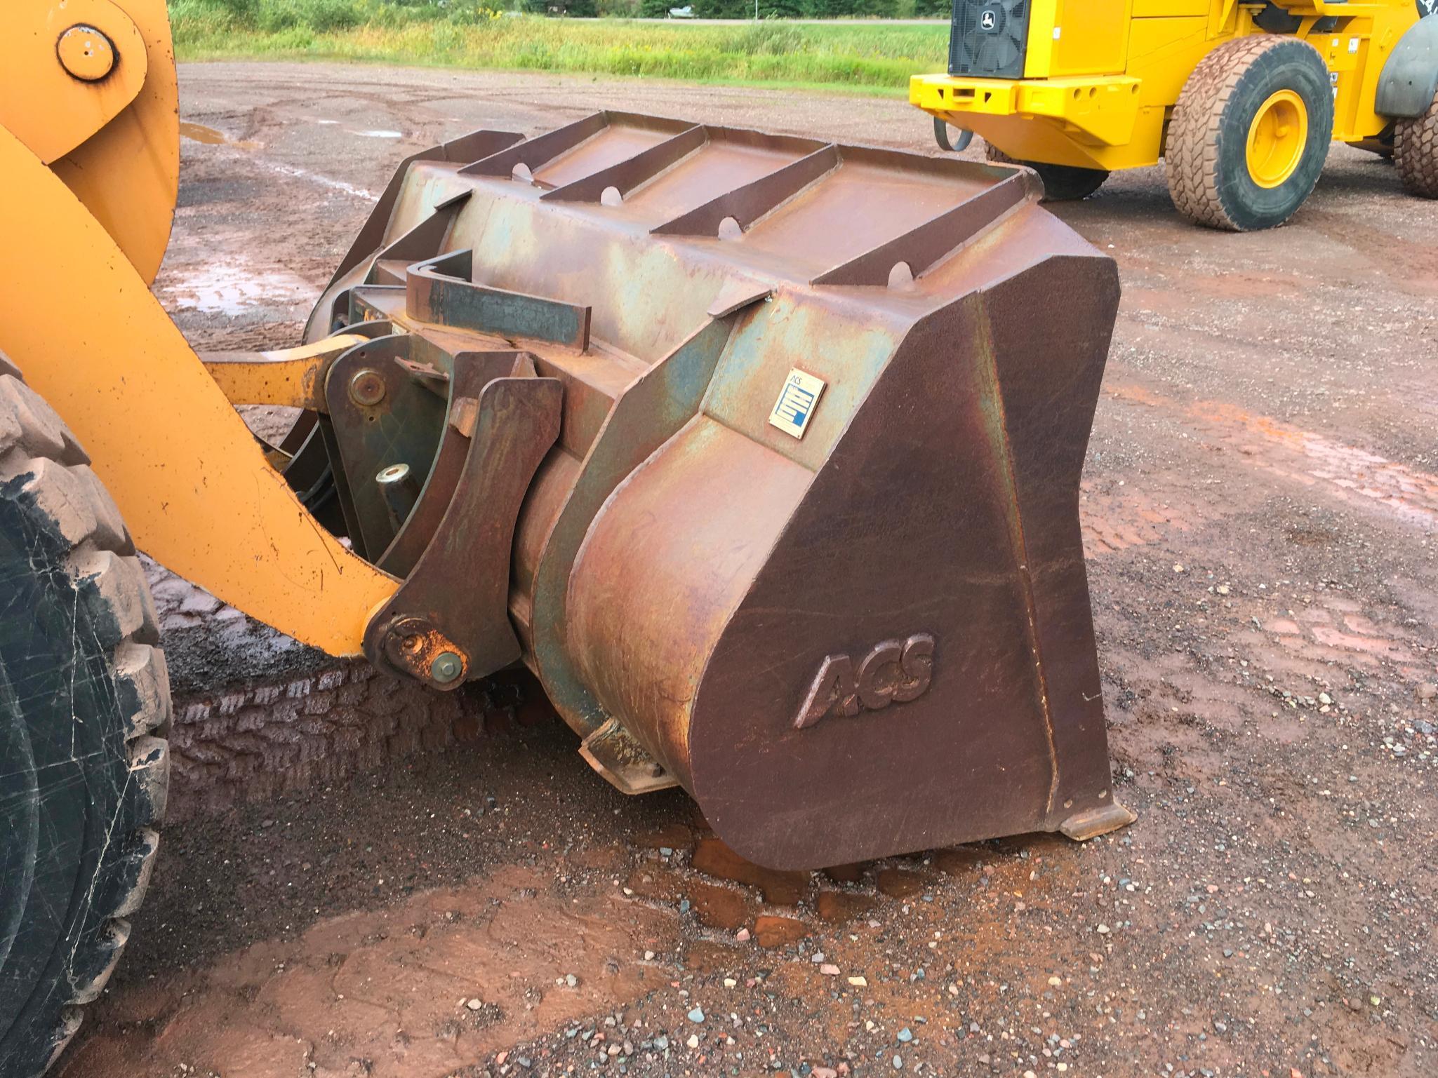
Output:
[[600,773],[766,865],[1129,822],[1078,530],[1117,273],[1038,194],[614,112],[407,161],[309,325],[407,335],[387,394],[444,415],[383,461],[424,480],[397,535],[331,438],[408,572],[367,651],[522,660]]

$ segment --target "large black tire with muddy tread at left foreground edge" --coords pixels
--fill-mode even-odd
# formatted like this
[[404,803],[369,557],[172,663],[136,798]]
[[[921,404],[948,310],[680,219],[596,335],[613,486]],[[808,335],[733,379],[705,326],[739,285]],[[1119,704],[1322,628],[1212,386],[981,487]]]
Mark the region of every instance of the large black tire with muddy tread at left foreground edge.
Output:
[[119,510],[0,355],[0,1075],[43,1072],[150,880],[170,684]]

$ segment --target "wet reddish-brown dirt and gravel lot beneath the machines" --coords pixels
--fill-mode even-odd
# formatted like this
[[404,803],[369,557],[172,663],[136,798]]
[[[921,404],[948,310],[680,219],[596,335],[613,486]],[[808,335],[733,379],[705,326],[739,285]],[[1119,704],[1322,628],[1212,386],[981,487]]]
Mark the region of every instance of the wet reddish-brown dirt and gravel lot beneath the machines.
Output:
[[[607,106],[929,148],[902,102],[838,96],[234,63],[181,89],[203,141],[157,292],[204,348],[290,342],[391,164],[476,126]],[[1159,170],[1058,213],[1125,286],[1084,532],[1137,824],[762,872],[496,696],[460,747],[171,826],[60,1072],[1431,1074],[1438,204],[1337,148],[1270,233],[1189,227]]]

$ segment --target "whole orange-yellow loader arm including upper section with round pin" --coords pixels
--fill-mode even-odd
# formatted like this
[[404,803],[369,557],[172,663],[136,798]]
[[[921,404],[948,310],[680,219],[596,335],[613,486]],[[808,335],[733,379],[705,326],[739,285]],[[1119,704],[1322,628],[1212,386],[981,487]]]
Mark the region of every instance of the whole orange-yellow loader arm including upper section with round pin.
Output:
[[[360,654],[398,581],[315,522],[148,289],[178,174],[164,0],[19,9],[0,36],[0,352],[79,437],[142,550]],[[301,381],[280,402],[305,404]]]

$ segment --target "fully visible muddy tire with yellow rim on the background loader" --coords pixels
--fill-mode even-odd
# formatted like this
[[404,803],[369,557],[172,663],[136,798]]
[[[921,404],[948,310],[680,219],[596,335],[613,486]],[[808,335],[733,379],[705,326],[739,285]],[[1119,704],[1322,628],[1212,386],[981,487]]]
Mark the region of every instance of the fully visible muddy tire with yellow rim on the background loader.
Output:
[[1332,138],[1317,49],[1268,34],[1221,45],[1173,106],[1165,147],[1173,206],[1211,229],[1273,229],[1313,191]]

